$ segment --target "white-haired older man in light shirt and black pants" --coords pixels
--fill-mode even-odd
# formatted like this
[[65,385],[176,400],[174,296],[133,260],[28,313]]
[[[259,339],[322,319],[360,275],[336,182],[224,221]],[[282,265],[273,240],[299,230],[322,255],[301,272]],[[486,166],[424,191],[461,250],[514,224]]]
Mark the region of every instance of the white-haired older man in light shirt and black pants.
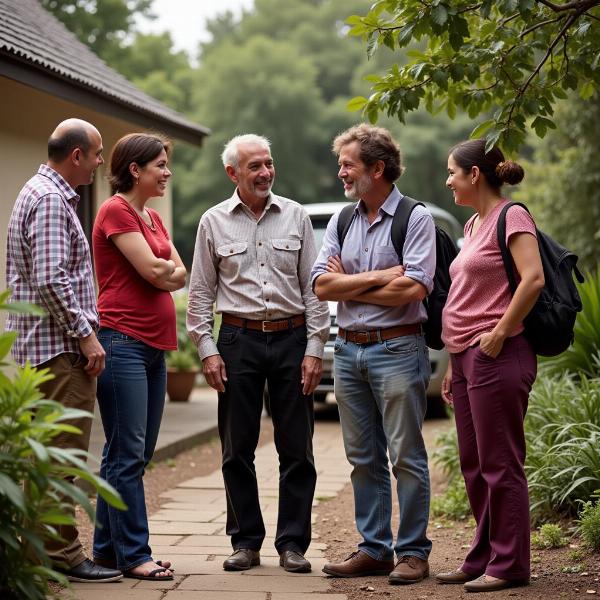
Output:
[[[188,331],[206,380],[219,392],[227,533],[234,549],[223,568],[260,563],[265,527],[254,451],[266,382],[280,464],[275,548],[286,571],[303,573],[311,569],[304,553],[316,481],[312,393],[321,379],[329,312],[311,289],[316,248],[310,219],[300,204],[271,192],[269,141],[238,136],[222,158],[237,187],[200,221]],[[216,344],[213,304],[222,314]]]

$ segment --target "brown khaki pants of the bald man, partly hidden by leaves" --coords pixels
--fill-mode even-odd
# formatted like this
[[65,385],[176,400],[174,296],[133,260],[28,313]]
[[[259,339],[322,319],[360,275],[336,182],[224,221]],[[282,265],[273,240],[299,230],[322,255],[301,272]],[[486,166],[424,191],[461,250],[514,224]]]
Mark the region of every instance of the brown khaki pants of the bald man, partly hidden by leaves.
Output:
[[[90,377],[83,370],[86,363],[84,356],[66,352],[38,365],[38,369],[47,368],[54,375],[54,379],[40,386],[40,391],[46,398],[56,400],[67,408],[78,408],[93,413],[96,378]],[[52,445],[58,448],[77,448],[87,451],[92,419],[80,418],[70,420],[68,423],[80,429],[81,435],[62,432],[52,440]],[[73,479],[68,478],[68,481],[72,482]],[[74,514],[75,507],[72,511]],[[59,525],[57,529],[64,542],[50,540],[46,544],[48,556],[54,563],[65,563],[68,568],[76,567],[86,558],[77,528],[71,525]]]

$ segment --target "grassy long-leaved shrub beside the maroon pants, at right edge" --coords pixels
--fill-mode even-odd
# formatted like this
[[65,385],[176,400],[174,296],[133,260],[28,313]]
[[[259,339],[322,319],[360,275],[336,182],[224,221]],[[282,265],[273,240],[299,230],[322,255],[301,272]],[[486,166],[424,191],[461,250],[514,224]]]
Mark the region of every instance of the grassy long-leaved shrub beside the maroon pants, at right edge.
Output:
[[538,378],[525,435],[534,520],[574,516],[600,487],[600,378]]

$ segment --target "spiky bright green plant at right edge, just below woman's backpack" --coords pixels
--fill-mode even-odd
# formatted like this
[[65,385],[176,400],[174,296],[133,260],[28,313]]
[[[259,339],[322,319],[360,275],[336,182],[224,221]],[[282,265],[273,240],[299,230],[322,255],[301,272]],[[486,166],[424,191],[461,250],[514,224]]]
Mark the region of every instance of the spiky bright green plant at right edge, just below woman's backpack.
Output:
[[600,268],[585,273],[577,283],[583,310],[575,321],[575,341],[559,356],[540,360],[540,374],[561,375],[565,371],[587,377],[600,376]]

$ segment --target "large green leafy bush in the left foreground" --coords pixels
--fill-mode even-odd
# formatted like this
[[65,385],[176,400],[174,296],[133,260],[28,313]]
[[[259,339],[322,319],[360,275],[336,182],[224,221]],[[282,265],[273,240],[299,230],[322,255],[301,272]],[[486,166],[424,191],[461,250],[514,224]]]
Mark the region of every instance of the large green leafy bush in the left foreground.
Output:
[[[6,305],[8,295],[0,294],[0,309],[22,310]],[[110,504],[125,505],[87,466],[86,452],[51,445],[59,433],[79,431],[66,421],[92,415],[44,399],[38,388],[48,371],[6,361],[14,338],[0,334],[0,598],[42,600],[49,580],[67,583],[53,570],[44,542],[58,539],[57,525],[74,524],[73,503],[94,518],[85,493],[65,478],[80,477]]]

